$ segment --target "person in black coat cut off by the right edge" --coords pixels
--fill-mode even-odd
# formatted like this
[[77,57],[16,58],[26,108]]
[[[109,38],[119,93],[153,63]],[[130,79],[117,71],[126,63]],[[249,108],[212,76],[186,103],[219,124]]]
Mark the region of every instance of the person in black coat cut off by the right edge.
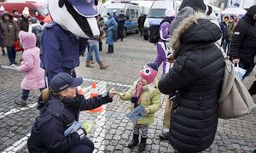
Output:
[[241,68],[247,70],[243,78],[247,77],[254,67],[256,55],[256,5],[247,10],[245,19],[235,27],[230,45],[230,58],[233,63],[239,63]]

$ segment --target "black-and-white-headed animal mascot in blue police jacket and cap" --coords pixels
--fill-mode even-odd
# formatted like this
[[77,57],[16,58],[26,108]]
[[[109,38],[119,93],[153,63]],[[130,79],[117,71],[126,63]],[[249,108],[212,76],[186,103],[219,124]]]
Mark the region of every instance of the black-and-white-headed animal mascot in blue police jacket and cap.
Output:
[[49,0],[52,21],[41,35],[40,59],[46,84],[59,72],[76,77],[79,53],[89,38],[97,39],[97,0]]

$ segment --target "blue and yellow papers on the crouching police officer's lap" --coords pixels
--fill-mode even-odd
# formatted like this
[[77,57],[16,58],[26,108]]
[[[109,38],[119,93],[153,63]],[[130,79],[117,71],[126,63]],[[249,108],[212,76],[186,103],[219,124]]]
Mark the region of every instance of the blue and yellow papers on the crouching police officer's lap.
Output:
[[88,122],[73,122],[73,124],[67,128],[64,132],[64,135],[67,136],[69,133],[76,132],[80,127],[84,127],[86,133],[90,133],[93,123]]

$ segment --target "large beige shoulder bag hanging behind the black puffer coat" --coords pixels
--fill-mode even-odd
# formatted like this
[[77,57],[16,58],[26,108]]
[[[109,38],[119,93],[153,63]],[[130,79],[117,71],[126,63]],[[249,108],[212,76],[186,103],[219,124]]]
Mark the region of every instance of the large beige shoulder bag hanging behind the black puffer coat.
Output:
[[230,119],[249,114],[256,105],[243,82],[236,77],[235,66],[220,48],[224,55],[224,80],[218,99],[218,118]]

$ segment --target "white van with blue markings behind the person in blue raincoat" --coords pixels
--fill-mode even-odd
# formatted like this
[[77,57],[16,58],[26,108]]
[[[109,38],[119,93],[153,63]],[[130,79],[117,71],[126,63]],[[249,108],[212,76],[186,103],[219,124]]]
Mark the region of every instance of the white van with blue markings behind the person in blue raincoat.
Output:
[[[133,31],[138,32],[138,23],[137,19],[141,14],[140,7],[135,3],[108,3],[106,7],[107,11],[116,10],[116,15],[118,16],[121,10],[125,11],[126,21],[125,21],[125,30],[124,37],[127,33],[131,33]],[[107,13],[106,13],[107,14]],[[103,17],[106,17],[106,14],[102,14]]]

